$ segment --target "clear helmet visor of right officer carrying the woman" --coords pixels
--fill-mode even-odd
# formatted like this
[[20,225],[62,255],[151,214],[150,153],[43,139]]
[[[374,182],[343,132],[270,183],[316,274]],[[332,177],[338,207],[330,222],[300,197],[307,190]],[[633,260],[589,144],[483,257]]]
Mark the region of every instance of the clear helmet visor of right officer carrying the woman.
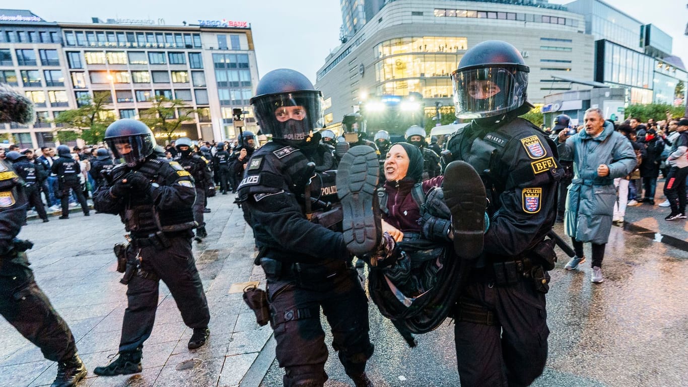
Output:
[[483,67],[456,71],[451,78],[458,118],[496,116],[526,102],[526,72],[512,72],[505,67]]

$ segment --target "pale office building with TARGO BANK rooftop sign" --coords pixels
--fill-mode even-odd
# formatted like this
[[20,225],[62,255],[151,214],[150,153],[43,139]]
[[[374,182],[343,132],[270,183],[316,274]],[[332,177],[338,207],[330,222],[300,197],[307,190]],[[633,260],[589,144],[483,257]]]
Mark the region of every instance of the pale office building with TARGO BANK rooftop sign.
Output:
[[237,107],[249,112],[246,125],[255,125],[248,100],[258,72],[248,23],[53,23],[25,10],[0,15],[0,81],[36,106],[33,125],[8,124],[2,131],[21,147],[54,146],[56,131],[66,129],[54,118],[95,96],[105,98],[114,118],[139,118],[155,96],[180,99],[195,119],[175,136],[233,138]]

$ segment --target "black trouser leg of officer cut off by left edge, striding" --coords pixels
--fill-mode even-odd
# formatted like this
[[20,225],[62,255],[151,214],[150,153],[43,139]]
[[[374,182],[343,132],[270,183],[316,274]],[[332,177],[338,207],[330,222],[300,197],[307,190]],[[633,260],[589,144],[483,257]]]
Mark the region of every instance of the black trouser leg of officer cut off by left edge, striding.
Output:
[[74,335],[34,280],[26,253],[0,258],[0,314],[43,357],[64,362],[74,357]]

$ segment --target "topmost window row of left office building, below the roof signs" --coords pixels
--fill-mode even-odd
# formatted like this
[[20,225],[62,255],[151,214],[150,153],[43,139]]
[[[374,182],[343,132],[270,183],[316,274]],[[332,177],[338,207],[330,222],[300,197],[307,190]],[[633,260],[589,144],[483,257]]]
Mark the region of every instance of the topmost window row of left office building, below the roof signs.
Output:
[[202,48],[200,34],[179,32],[65,30],[65,43],[85,47]]

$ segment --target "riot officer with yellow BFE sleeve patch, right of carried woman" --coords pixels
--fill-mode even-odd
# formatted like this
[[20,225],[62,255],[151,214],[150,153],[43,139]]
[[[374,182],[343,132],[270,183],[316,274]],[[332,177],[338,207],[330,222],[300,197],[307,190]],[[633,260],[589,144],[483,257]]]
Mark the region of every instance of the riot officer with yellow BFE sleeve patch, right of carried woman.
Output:
[[[464,160],[480,174],[490,217],[484,249],[455,311],[465,387],[528,386],[547,359],[546,270],[554,266],[554,251],[544,237],[555,221],[561,169],[553,143],[518,117],[532,107],[528,71],[513,45],[484,41],[452,73],[456,116],[472,121],[451,135],[447,149],[452,160]],[[460,176],[449,173],[444,182],[461,184]]]

